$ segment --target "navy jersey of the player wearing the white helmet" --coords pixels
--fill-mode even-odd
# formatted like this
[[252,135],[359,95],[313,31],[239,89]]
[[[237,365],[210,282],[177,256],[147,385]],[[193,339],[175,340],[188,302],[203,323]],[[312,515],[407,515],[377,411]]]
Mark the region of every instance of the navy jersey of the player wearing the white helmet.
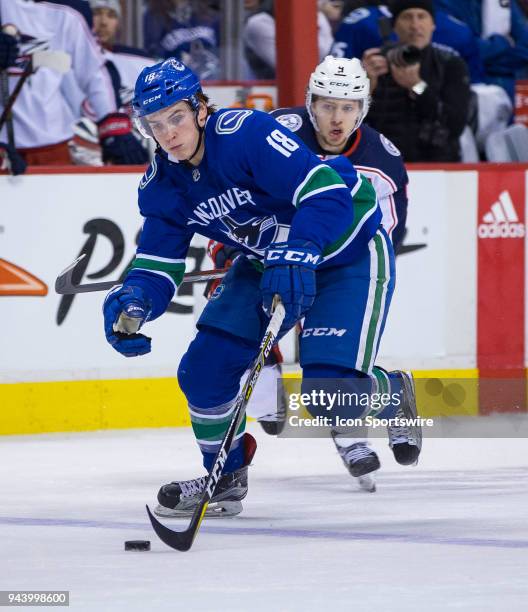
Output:
[[[383,214],[383,227],[397,248],[403,238],[407,219],[407,171],[402,156],[392,142],[375,129],[363,124],[349,138],[343,156],[329,154],[319,145],[315,130],[304,106],[279,108],[271,112],[277,121],[295,132],[325,162],[334,159],[333,167],[345,177],[358,170],[372,183]],[[350,163],[349,163],[350,162]],[[353,164],[353,166],[351,165]],[[347,169],[348,166],[348,169]]]

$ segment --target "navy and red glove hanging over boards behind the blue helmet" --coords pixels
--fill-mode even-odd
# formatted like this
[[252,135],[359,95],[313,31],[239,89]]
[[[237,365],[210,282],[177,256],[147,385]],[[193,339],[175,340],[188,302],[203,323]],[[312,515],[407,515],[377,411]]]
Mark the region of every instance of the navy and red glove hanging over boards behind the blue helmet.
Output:
[[103,162],[112,164],[146,164],[147,151],[132,134],[130,117],[125,113],[110,113],[97,124]]

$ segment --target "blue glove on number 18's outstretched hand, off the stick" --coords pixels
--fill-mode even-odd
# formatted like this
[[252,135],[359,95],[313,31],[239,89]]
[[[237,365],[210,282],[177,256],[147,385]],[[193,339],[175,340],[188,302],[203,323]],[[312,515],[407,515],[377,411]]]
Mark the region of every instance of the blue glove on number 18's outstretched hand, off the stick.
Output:
[[136,333],[148,320],[151,302],[140,287],[117,287],[103,304],[105,336],[118,353],[137,357],[150,353],[151,339]]

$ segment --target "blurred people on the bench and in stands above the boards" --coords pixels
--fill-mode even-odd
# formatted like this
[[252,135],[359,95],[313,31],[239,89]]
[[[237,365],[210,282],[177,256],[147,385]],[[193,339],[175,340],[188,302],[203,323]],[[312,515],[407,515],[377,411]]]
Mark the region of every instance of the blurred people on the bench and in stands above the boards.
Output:
[[[145,163],[152,151],[130,120],[140,70],[176,57],[202,80],[224,78],[221,50],[233,43],[222,40],[222,0],[144,0],[142,48],[122,43],[125,8],[120,0],[0,0],[4,169]],[[243,10],[240,78],[272,80],[273,0],[244,0]],[[317,19],[320,60],[362,61],[367,122],[406,161],[495,161],[505,150],[497,135],[513,132],[514,154],[528,151],[516,132],[524,126],[512,125],[516,84],[528,78],[528,0],[318,0]],[[54,49],[70,56],[71,70],[39,67],[53,64],[42,52]]]

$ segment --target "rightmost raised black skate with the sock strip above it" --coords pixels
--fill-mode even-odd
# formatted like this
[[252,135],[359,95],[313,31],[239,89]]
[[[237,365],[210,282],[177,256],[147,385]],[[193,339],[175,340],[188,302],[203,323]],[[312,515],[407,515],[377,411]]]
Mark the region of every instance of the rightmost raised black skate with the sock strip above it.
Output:
[[[414,419],[417,417],[416,395],[414,392],[414,381],[410,372],[395,371],[402,378],[402,405],[394,415],[402,419]],[[389,434],[389,446],[394,458],[400,465],[412,465],[418,463],[418,457],[422,450],[422,427],[387,427]]]

